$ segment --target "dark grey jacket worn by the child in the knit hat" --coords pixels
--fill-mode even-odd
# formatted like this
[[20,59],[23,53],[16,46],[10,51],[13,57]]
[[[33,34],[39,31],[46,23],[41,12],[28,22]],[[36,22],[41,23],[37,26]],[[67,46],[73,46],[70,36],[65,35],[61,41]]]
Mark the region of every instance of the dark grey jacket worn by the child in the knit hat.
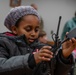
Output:
[[29,45],[24,35],[0,34],[0,75],[67,75],[73,64],[72,55],[64,59],[60,50],[50,62],[36,65],[32,52],[40,46],[38,41]]

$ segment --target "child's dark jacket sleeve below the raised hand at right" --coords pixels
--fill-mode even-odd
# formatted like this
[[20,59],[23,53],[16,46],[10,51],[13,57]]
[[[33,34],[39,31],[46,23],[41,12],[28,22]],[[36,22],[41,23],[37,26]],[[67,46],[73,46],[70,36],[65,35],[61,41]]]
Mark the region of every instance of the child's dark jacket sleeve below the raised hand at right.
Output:
[[65,59],[62,56],[62,50],[60,50],[56,56],[56,59],[55,75],[67,75],[74,63],[73,56],[70,55],[67,59]]

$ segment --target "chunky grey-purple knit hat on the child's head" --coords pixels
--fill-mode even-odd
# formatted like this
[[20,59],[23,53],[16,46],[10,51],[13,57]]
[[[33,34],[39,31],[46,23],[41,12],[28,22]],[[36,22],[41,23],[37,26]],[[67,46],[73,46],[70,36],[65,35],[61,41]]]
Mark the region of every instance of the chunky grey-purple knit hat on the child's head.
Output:
[[11,26],[15,25],[18,19],[25,15],[35,15],[38,17],[40,21],[40,16],[33,7],[31,6],[18,6],[15,8],[12,8],[8,15],[5,18],[4,25],[11,30]]

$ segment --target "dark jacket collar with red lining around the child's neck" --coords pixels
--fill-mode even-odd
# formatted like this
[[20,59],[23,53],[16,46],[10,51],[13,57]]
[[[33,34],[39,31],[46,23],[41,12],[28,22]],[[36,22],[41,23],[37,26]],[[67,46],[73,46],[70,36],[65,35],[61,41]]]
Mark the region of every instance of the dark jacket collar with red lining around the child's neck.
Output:
[[20,35],[20,36],[15,36],[14,34],[10,33],[10,32],[5,32],[5,33],[1,33],[0,37],[6,37],[14,42],[16,42],[17,44],[19,44],[20,46],[25,46],[25,45],[29,45],[29,46],[36,46],[38,43],[38,39],[36,39],[33,43],[29,44],[27,42],[26,36],[25,35]]

